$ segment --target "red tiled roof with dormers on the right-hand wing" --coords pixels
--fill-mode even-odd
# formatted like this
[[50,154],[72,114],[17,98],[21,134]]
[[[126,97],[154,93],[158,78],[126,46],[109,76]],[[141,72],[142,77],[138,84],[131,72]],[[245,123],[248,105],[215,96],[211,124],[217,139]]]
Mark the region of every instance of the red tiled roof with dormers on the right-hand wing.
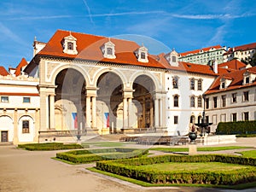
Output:
[[[242,84],[243,83],[243,73],[245,73],[246,71],[249,73],[256,73],[256,67],[251,67],[251,68],[243,69],[241,71],[235,71],[232,73],[226,73],[226,74],[220,75],[218,77],[218,79],[216,79],[212,83],[211,87],[206,91],[205,94],[212,94],[212,93],[223,92],[226,90],[236,90],[236,89],[240,89],[243,87],[255,86],[256,81],[254,81],[252,84]],[[220,79],[222,79],[222,78],[231,79],[232,82],[229,85],[229,87],[219,90]]]

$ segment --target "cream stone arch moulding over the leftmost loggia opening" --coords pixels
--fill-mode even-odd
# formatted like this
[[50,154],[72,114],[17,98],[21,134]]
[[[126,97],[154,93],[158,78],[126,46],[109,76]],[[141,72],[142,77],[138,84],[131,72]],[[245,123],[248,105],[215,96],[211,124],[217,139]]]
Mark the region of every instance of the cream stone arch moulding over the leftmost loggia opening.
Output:
[[61,67],[55,67],[52,71],[52,73],[50,74],[50,82],[52,84],[55,84],[55,79],[57,77],[57,75],[59,73],[61,73],[61,71],[63,71],[64,69],[74,69],[76,71],[78,71],[79,73],[81,73],[84,77],[85,83],[86,84],[90,84],[90,74],[87,73],[83,67],[79,67],[78,65],[70,65],[70,64],[66,64],[66,65],[61,65]]

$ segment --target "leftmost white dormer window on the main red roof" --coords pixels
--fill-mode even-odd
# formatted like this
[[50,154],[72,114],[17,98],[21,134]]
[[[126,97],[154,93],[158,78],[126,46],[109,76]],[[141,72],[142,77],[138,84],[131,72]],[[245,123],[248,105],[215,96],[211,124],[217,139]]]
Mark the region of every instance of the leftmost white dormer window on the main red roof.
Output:
[[77,39],[70,35],[62,40],[63,52],[69,55],[77,55]]

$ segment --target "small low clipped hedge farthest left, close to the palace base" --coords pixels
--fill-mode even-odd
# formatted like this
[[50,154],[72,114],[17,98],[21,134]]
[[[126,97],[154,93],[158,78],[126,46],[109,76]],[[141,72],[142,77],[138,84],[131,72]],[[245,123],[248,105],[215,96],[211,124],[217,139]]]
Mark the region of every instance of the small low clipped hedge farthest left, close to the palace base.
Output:
[[18,148],[25,148],[30,151],[43,151],[43,150],[61,150],[61,149],[75,149],[83,148],[77,143],[64,144],[64,143],[29,143],[29,144],[19,144]]

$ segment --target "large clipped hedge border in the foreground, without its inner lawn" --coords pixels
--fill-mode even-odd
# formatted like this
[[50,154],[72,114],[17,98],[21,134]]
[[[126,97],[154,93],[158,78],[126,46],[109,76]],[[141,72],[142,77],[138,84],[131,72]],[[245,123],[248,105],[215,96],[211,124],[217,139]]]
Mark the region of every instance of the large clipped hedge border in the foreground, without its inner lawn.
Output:
[[[201,172],[195,171],[155,171],[145,170],[142,165],[153,165],[166,162],[211,162],[218,161],[247,165],[248,167],[236,171]],[[235,185],[256,181],[256,159],[227,155],[193,155],[176,156],[164,155],[131,160],[110,160],[96,162],[96,168],[104,172],[112,172],[125,177],[135,178],[148,183],[205,183],[216,185]]]

